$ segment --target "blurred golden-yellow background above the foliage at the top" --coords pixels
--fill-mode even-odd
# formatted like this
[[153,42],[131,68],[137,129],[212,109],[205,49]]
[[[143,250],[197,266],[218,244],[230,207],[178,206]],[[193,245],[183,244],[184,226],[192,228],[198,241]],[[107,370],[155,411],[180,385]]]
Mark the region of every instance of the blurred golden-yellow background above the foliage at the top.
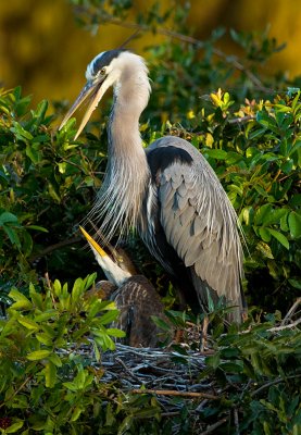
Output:
[[[137,9],[149,2],[137,1]],[[164,4],[170,4],[165,0]],[[264,30],[287,48],[265,65],[268,71],[286,71],[290,78],[301,74],[300,0],[191,0],[189,25],[193,36],[206,39],[218,27],[236,30]],[[85,83],[88,62],[99,52],[118,47],[133,30],[114,25],[91,35],[76,24],[67,0],[9,0],[0,2],[0,85],[23,87],[35,103],[74,100]],[[141,53],[145,44],[160,44],[163,37],[151,33],[130,41]],[[217,42],[231,54],[234,45]]]

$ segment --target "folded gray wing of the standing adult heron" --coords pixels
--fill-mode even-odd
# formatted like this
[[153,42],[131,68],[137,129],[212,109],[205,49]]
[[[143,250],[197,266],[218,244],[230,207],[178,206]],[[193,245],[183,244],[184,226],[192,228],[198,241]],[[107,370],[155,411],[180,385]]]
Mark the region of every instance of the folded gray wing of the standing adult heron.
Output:
[[212,167],[189,142],[174,137],[156,141],[156,147],[166,145],[185,149],[192,157],[189,164],[175,160],[156,174],[166,239],[190,268],[200,303],[205,304],[210,287],[238,306],[233,320],[239,321],[242,249],[235,210]]

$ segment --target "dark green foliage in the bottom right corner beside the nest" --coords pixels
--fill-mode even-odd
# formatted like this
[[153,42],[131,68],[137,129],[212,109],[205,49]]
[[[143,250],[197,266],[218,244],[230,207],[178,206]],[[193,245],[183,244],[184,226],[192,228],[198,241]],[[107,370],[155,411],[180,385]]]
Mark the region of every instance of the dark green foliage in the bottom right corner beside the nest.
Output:
[[301,333],[275,326],[279,321],[278,312],[266,316],[265,322],[250,322],[251,327],[240,334],[231,327],[220,335],[216,327],[216,351],[206,358],[208,368],[201,376],[214,374],[218,385],[227,388],[228,397],[220,406],[211,403],[203,410],[205,421],[228,415],[229,433],[235,433],[231,412],[236,410],[241,433],[299,433]]

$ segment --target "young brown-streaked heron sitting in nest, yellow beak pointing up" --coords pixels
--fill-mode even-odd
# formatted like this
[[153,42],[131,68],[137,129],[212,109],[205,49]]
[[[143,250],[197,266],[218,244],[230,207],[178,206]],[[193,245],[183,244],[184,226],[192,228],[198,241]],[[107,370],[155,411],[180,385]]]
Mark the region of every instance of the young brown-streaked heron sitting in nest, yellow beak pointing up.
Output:
[[[122,269],[116,261],[99,246],[99,244],[83,228],[95,258],[103,270],[108,282],[100,282],[99,289],[87,291],[88,297],[95,293],[103,299],[111,299],[120,310],[120,316],[113,326],[126,333],[125,344],[133,347],[155,347],[160,340],[160,330],[152,315],[168,323],[164,314],[164,306],[152,284],[143,275],[133,275],[129,269]],[[173,330],[171,327],[171,335]],[[164,336],[163,339],[172,336]],[[168,340],[170,340],[168,339]]]

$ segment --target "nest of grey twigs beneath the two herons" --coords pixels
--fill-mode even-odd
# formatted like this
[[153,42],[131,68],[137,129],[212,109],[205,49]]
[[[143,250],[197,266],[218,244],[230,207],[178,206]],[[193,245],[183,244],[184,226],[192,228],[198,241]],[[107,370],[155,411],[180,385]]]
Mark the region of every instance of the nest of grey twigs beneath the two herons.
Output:
[[208,431],[200,421],[201,411],[209,400],[221,399],[214,381],[200,380],[205,357],[212,351],[185,349],[186,355],[181,355],[172,348],[134,348],[116,343],[116,349],[102,353],[100,362],[95,361],[90,346],[81,348],[81,352],[91,366],[103,370],[101,383],[115,386],[124,394],[155,396],[161,418],[173,421],[171,434],[180,433],[183,422],[176,418],[181,420],[185,408],[193,425]]

